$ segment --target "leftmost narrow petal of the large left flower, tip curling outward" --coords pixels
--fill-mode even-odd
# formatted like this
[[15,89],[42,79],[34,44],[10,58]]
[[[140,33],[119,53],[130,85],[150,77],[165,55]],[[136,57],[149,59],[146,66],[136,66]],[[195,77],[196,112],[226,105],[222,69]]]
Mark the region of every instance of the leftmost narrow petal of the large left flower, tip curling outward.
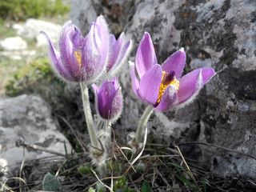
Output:
[[66,70],[65,67],[62,66],[60,54],[56,50],[54,43],[51,41],[51,39],[45,32],[41,31],[40,33],[46,35],[46,38],[49,42],[50,60],[51,60],[52,66],[54,67],[56,74],[58,74],[58,76],[60,76],[61,78],[67,79],[69,81],[74,81],[74,78],[72,78],[72,76],[69,74],[68,70]]

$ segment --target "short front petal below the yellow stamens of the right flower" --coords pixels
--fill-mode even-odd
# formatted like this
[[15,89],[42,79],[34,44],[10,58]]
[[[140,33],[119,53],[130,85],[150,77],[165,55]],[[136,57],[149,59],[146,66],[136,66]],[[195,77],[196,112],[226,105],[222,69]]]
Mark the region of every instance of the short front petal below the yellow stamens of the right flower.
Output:
[[166,111],[172,109],[178,104],[178,94],[174,86],[167,86],[165,92],[162,94],[161,102],[154,108],[156,111]]

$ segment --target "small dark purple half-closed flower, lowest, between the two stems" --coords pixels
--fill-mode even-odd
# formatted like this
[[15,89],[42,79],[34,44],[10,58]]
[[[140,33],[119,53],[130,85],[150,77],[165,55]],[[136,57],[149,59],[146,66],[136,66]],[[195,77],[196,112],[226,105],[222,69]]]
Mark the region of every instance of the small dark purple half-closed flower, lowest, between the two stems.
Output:
[[122,92],[118,84],[118,78],[112,81],[106,80],[98,89],[95,84],[92,85],[96,94],[96,109],[100,117],[114,122],[122,113]]

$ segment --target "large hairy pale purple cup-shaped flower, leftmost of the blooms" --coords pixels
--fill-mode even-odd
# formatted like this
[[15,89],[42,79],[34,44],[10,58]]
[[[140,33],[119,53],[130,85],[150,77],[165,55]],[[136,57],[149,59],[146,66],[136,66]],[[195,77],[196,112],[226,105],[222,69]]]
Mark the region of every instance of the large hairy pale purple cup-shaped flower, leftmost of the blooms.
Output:
[[50,60],[56,74],[70,82],[92,82],[106,65],[108,28],[103,16],[90,26],[86,38],[71,22],[66,22],[59,38],[59,52],[45,32],[50,44]]

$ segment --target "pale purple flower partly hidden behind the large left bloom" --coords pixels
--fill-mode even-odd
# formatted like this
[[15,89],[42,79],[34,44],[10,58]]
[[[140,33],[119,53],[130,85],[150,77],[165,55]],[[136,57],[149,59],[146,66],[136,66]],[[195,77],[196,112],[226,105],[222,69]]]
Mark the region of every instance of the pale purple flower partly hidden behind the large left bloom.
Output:
[[132,42],[126,42],[126,35],[120,34],[118,40],[115,39],[114,34],[110,34],[109,58],[106,64],[106,73],[114,74],[120,69],[120,66],[126,61],[130,54]]

